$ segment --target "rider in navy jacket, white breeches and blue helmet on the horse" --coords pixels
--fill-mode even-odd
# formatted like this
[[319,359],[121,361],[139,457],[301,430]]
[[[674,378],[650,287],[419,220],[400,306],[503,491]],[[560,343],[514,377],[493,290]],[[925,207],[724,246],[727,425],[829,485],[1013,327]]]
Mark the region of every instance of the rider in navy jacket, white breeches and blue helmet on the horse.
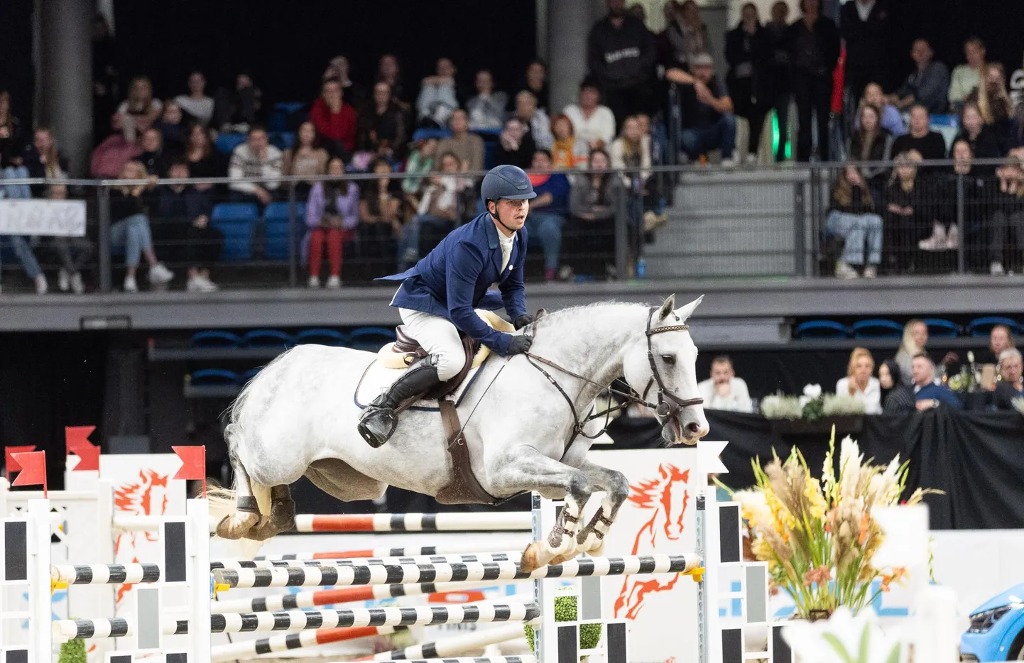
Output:
[[[400,280],[391,300],[409,336],[427,356],[378,396],[359,418],[359,435],[379,447],[398,426],[395,408],[459,374],[466,355],[463,333],[503,356],[529,350],[530,339],[496,332],[474,309],[505,307],[515,328],[534,320],[526,313],[523,264],[526,214],[536,197],[529,177],[515,166],[499,166],[483,178],[480,196],[486,212],[456,228],[412,269],[385,276]],[[501,291],[488,292],[492,284]]]

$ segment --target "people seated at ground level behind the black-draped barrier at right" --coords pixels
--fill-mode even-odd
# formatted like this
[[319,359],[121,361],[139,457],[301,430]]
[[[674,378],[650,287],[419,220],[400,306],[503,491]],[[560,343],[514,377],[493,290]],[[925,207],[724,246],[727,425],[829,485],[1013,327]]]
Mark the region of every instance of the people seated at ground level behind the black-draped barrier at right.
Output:
[[[854,348],[846,377],[837,381],[834,393],[861,401],[866,414],[924,411],[934,407],[1010,410],[1016,399],[1024,398],[1021,352],[1007,325],[993,325],[988,347],[972,351],[976,363],[970,368],[977,370],[981,378],[973,392],[956,393],[949,386],[949,378],[957,372],[957,365],[964,366],[967,362],[950,352],[936,364],[927,346],[928,326],[913,319],[904,325],[896,355],[878,364],[877,370],[871,352]],[[736,377],[728,356],[715,357],[711,378],[697,388],[705,407],[710,409],[755,410],[746,383]]]

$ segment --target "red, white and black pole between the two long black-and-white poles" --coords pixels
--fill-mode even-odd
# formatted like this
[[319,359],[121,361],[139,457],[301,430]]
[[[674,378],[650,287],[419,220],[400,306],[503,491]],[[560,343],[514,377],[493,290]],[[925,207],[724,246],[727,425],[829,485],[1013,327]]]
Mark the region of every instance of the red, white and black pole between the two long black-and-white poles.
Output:
[[421,594],[444,593],[450,591],[470,591],[483,587],[494,587],[495,582],[420,582],[417,584],[365,585],[339,587],[338,589],[316,589],[296,593],[257,596],[255,599],[232,599],[214,601],[210,612],[218,615],[232,612],[264,612],[273,610],[301,610],[317,606],[355,603],[357,601],[378,601],[394,596],[418,596]]

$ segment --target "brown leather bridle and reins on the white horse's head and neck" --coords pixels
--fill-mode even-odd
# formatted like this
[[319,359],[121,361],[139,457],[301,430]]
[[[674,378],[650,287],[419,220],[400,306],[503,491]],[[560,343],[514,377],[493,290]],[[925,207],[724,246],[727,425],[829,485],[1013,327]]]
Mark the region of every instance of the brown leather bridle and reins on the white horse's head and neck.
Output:
[[[662,419],[674,415],[683,407],[688,407],[691,405],[700,405],[703,403],[703,398],[700,397],[681,398],[679,395],[673,393],[665,386],[665,380],[662,378],[662,373],[657,369],[657,363],[654,361],[654,349],[651,346],[651,337],[653,337],[655,334],[662,334],[663,332],[687,332],[690,328],[690,325],[685,323],[667,324],[665,326],[651,328],[651,324],[654,319],[654,314],[658,310],[659,307],[657,306],[651,307],[650,312],[647,315],[647,328],[644,330],[644,336],[647,339],[647,361],[650,364],[651,377],[650,380],[647,381],[647,386],[644,388],[643,393],[637,393],[637,391],[632,387],[630,388],[629,392],[624,392],[612,388],[610,384],[602,385],[601,383],[595,382],[585,375],[581,375],[578,372],[569,370],[565,366],[561,366],[555,363],[554,361],[551,361],[550,359],[545,359],[544,357],[538,356],[531,352],[523,353],[523,356],[526,357],[526,361],[528,361],[531,366],[540,370],[541,373],[548,379],[548,382],[551,383],[551,385],[558,390],[558,393],[562,395],[562,398],[565,399],[565,402],[568,403],[569,409],[572,411],[573,427],[571,433],[569,434],[568,440],[566,440],[565,442],[564,451],[568,450],[569,446],[572,444],[573,440],[575,440],[577,436],[582,435],[583,437],[589,440],[593,440],[603,435],[608,430],[608,424],[610,423],[611,413],[617,410],[626,409],[627,407],[629,407],[634,403],[638,405],[644,405],[654,410],[654,412]],[[540,321],[543,315],[544,315],[543,310],[538,312],[537,317],[534,319],[534,322],[530,323],[532,338],[537,338],[537,323],[538,321]],[[558,381],[555,380],[554,377],[552,377],[552,374],[549,373],[547,370],[545,370],[544,367],[541,366],[540,364],[551,366],[552,368],[560,370],[561,372],[567,375],[571,375],[578,380],[582,380],[589,385],[600,387],[603,391],[607,391],[609,394],[615,394],[616,396],[622,396],[625,399],[625,402],[615,405],[613,407],[608,407],[603,411],[590,414],[589,416],[586,416],[581,419],[579,412],[577,411],[573,400],[565,392],[562,386],[558,384]],[[647,394],[650,392],[651,387],[653,387],[655,384],[657,385],[657,402],[651,403],[647,400]],[[584,431],[584,427],[589,422],[600,418],[602,416],[604,417],[603,428],[594,435],[588,435]]]

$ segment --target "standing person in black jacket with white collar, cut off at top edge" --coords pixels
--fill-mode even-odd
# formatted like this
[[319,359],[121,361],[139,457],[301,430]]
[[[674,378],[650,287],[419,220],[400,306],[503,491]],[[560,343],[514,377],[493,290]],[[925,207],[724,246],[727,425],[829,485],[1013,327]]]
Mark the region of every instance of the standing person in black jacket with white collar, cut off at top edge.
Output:
[[871,81],[889,82],[889,3],[847,2],[840,9],[839,25],[846,42],[846,86],[859,99]]

